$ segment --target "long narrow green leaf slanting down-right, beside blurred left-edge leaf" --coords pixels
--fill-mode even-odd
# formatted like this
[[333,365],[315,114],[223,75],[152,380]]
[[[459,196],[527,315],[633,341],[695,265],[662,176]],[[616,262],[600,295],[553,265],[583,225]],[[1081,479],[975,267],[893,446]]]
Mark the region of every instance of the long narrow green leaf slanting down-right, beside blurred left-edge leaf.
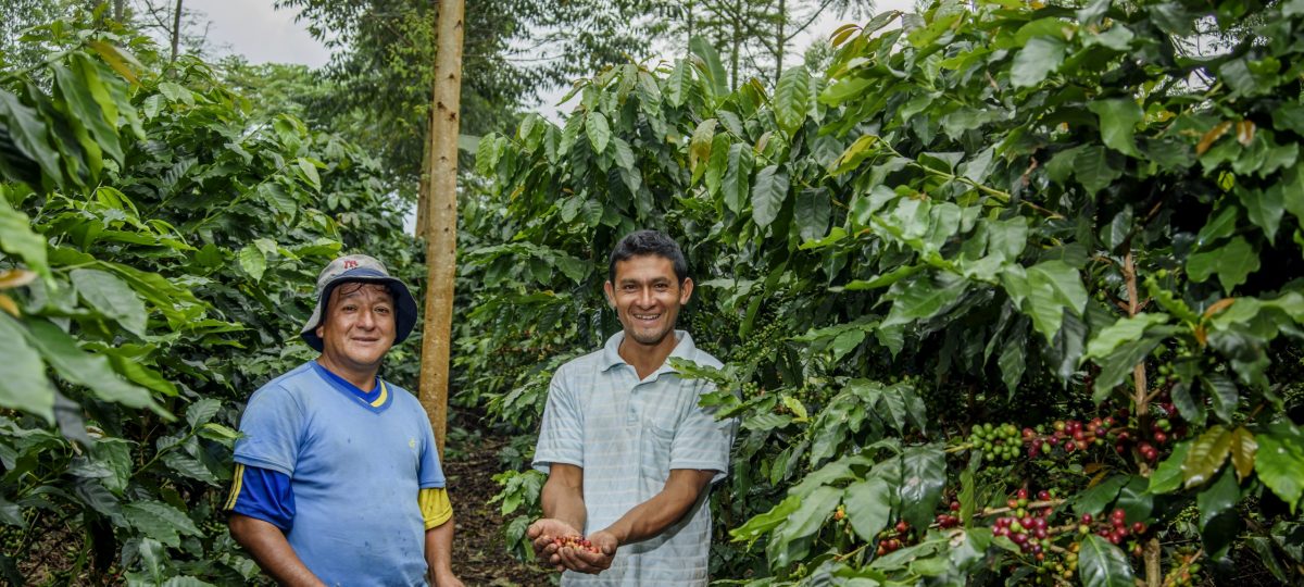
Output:
[[149,390],[128,384],[108,364],[103,355],[83,352],[67,333],[44,320],[27,324],[26,339],[40,351],[60,377],[70,384],[90,387],[106,402],[116,402],[129,407],[149,407],[155,414],[171,419]]

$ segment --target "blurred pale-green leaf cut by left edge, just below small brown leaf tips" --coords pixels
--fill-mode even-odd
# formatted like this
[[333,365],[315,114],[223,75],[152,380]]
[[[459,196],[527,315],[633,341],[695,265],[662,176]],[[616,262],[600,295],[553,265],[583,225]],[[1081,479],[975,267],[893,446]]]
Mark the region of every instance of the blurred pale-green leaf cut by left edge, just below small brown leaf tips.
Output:
[[23,342],[21,324],[0,313],[0,407],[22,410],[55,421],[55,387],[46,378],[46,361]]

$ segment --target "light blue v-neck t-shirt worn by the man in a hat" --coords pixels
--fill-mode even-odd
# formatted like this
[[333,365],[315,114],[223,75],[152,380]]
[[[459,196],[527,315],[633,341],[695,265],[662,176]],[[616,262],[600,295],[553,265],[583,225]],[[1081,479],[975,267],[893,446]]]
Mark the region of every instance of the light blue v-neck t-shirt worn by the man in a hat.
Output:
[[289,547],[326,584],[424,586],[424,488],[442,488],[430,421],[379,381],[364,399],[309,361],[262,386],[240,421],[235,460],[286,474]]

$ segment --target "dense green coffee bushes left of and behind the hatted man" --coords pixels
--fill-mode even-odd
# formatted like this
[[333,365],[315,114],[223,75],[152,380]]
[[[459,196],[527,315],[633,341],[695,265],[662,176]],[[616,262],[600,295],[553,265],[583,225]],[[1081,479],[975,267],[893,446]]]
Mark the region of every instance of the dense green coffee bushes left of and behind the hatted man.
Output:
[[256,583],[220,514],[243,402],[313,356],[327,260],[419,248],[363,150],[102,16],[0,70],[0,580]]

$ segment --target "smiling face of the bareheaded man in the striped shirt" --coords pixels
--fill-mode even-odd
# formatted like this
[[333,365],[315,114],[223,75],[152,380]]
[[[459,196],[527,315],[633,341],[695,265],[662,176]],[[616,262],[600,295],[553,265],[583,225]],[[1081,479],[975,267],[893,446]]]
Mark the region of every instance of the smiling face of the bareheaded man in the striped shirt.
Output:
[[606,282],[605,290],[626,339],[656,346],[674,331],[679,307],[692,296],[692,279],[681,284],[669,258],[644,254],[617,261],[615,280]]

